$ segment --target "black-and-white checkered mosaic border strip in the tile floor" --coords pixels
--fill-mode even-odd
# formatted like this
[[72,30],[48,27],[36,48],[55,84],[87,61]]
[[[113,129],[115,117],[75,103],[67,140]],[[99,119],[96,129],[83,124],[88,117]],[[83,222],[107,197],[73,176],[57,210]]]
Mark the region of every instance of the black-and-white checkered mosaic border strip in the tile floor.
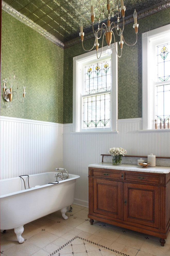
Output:
[[[71,240],[69,240],[67,243],[65,243],[64,245],[62,245],[59,249],[57,249],[56,251],[52,252],[52,253],[49,254],[48,256],[57,255],[57,253],[60,252],[60,250],[62,250],[64,247],[66,247],[67,245],[69,245],[72,241],[74,241],[74,240],[77,239],[77,238],[78,238],[78,239],[81,239],[81,240],[83,240],[83,241],[89,242],[89,243],[91,243],[91,244],[100,246],[100,247],[102,247],[102,248],[104,248],[104,249],[107,249],[107,250],[109,250],[109,251],[118,253],[118,254],[120,254],[120,255],[129,256],[128,254],[125,254],[125,253],[122,253],[122,252],[118,252],[118,251],[116,251],[116,250],[114,250],[114,249],[111,249],[111,248],[109,248],[109,247],[107,247],[107,246],[100,245],[100,244],[98,244],[98,243],[92,242],[92,241],[90,241],[90,240],[88,240],[88,239],[86,239],[86,238],[82,238],[82,237],[80,237],[80,236],[75,236],[75,237],[73,237]],[[58,255],[60,255],[60,254],[58,254]],[[73,255],[74,255],[74,253],[73,253]]]

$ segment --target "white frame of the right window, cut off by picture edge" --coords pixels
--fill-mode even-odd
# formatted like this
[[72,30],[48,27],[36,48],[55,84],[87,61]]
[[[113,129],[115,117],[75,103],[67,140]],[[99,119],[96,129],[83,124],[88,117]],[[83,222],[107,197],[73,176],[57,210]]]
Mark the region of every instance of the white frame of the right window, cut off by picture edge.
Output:
[[[152,68],[155,59],[153,54],[158,44],[169,41],[170,25],[153,29],[142,33],[142,117],[143,130],[155,129],[155,86],[169,84],[168,81],[154,82],[152,73],[156,67]],[[156,58],[156,56],[155,56]],[[153,70],[154,69],[154,70]],[[158,125],[159,129],[159,125]],[[161,129],[162,130],[162,129]]]

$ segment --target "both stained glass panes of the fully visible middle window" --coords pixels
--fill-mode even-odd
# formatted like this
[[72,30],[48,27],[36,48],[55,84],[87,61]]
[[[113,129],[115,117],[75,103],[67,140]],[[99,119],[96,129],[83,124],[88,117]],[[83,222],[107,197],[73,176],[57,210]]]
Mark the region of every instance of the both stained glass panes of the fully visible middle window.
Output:
[[110,127],[111,60],[85,67],[83,128]]

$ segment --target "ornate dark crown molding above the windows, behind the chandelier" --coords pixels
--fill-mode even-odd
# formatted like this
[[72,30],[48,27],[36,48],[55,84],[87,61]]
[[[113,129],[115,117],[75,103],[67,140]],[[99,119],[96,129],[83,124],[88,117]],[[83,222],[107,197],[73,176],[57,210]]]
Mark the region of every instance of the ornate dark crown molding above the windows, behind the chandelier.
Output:
[[[159,3],[159,5],[155,5],[154,7],[150,8],[150,9],[148,8],[148,10],[145,10],[144,12],[138,13],[138,19],[142,19],[142,18],[147,17],[147,16],[149,16],[151,14],[154,14],[156,12],[165,10],[168,7],[170,7],[170,1],[166,1],[166,2],[161,3],[161,4]],[[125,25],[129,24],[131,22],[133,22],[133,17],[132,16],[131,17],[127,17],[124,20],[124,24]],[[123,26],[123,21],[120,21],[119,25],[120,25],[120,27]],[[94,37],[93,32],[88,33],[88,34],[84,35],[83,41],[88,40],[88,39],[90,39],[92,37]],[[80,37],[77,37],[77,38],[75,38],[73,40],[70,40],[70,41],[68,41],[68,42],[66,42],[64,44],[64,49],[68,48],[68,47],[70,47],[70,46],[72,46],[74,44],[80,43],[80,42],[81,42]]]

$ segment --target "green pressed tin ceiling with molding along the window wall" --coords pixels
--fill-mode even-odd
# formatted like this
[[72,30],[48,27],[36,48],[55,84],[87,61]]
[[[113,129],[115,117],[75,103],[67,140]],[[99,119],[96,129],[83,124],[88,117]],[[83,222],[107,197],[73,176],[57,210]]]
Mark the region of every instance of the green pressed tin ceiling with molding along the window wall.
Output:
[[[95,1],[97,0],[94,0],[94,2]],[[117,0],[115,0],[115,3],[116,2]],[[5,4],[7,4],[7,6]],[[126,6],[126,24],[128,23],[128,19],[129,22],[132,22],[134,9],[137,11],[138,18],[142,18],[162,9],[167,9],[170,6],[170,1],[124,0],[124,5]],[[54,36],[55,39],[58,39],[58,45],[62,48],[80,42],[80,19],[83,21],[84,34],[86,35],[92,32],[90,0],[6,0],[5,2],[2,1],[2,6],[5,11],[8,9],[9,12],[8,6],[10,6],[26,16],[33,21],[34,24],[38,25],[38,27],[41,27],[45,32]],[[94,12],[97,12],[95,4]],[[13,11],[10,11],[10,14],[13,15]],[[116,21],[115,17],[111,17],[111,21]],[[95,29],[98,28],[97,22],[97,19],[95,19]],[[91,36],[88,38],[90,37]],[[86,37],[84,39],[86,39]]]

